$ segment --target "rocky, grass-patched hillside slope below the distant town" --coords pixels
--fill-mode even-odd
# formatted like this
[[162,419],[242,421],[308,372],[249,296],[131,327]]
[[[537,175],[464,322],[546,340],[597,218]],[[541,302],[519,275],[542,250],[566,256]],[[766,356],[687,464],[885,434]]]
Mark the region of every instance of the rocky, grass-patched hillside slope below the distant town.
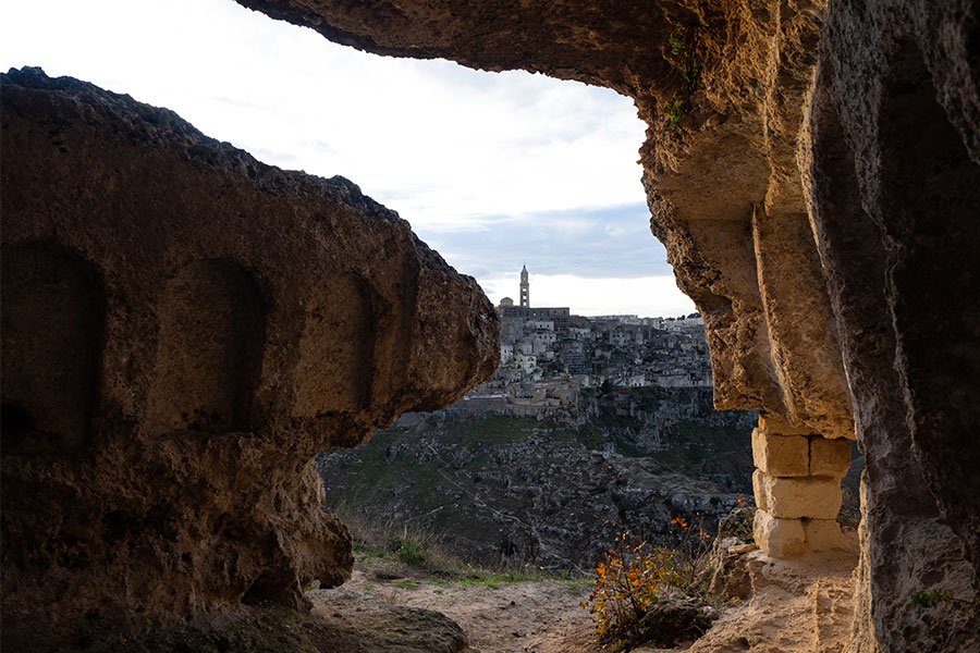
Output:
[[751,495],[754,416],[714,414],[706,389],[624,392],[647,411],[617,416],[611,394],[581,429],[450,408],[379,431],[318,459],[327,505],[503,567],[589,571],[624,529],[676,544],[674,517],[713,533]]

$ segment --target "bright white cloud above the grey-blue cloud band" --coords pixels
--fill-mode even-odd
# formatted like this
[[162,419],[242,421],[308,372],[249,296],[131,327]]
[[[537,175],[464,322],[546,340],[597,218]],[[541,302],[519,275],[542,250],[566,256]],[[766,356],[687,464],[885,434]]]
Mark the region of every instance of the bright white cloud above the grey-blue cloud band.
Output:
[[642,124],[608,89],[381,58],[231,0],[4,9],[0,61],[167,106],[267,162],[342,174],[413,224],[642,201]]

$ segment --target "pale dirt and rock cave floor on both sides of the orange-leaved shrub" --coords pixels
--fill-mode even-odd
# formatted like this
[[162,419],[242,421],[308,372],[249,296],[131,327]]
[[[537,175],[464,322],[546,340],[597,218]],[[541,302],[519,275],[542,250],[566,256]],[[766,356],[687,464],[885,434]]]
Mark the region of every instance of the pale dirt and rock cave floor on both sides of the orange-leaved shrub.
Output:
[[[775,560],[751,545],[728,551],[726,568],[735,574],[733,582],[712,597],[716,607],[711,609],[720,615],[714,625],[700,638],[696,633],[681,637],[671,648],[641,645],[634,651],[845,650],[854,609],[853,571],[857,559],[853,552]],[[544,577],[501,576],[467,582],[392,565],[387,559],[359,557],[343,589],[315,591],[309,596],[314,614],[322,616],[330,626],[339,627],[345,634],[359,627],[365,633],[362,641],[373,644],[367,651],[609,651],[608,644],[596,640],[593,617],[580,605],[589,589],[581,579]],[[385,634],[394,631],[400,637],[397,643],[385,642]]]

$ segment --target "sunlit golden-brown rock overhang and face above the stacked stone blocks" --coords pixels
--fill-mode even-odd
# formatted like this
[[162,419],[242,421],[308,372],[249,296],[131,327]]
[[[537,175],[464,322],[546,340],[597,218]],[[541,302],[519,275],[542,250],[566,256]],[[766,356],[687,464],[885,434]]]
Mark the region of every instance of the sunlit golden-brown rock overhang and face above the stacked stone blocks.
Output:
[[371,52],[524,69],[633,97],[649,125],[651,226],[706,320],[715,404],[854,439],[797,160],[820,3],[240,3]]

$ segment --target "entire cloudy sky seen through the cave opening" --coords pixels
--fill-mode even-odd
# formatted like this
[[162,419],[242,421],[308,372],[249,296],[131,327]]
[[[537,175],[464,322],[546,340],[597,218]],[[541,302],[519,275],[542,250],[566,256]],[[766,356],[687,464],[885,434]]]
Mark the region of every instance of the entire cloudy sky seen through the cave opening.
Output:
[[265,163],[342,175],[491,300],[695,310],[649,230],[644,124],[616,93],[377,57],[232,0],[0,0],[0,69],[37,65],[176,111]]

